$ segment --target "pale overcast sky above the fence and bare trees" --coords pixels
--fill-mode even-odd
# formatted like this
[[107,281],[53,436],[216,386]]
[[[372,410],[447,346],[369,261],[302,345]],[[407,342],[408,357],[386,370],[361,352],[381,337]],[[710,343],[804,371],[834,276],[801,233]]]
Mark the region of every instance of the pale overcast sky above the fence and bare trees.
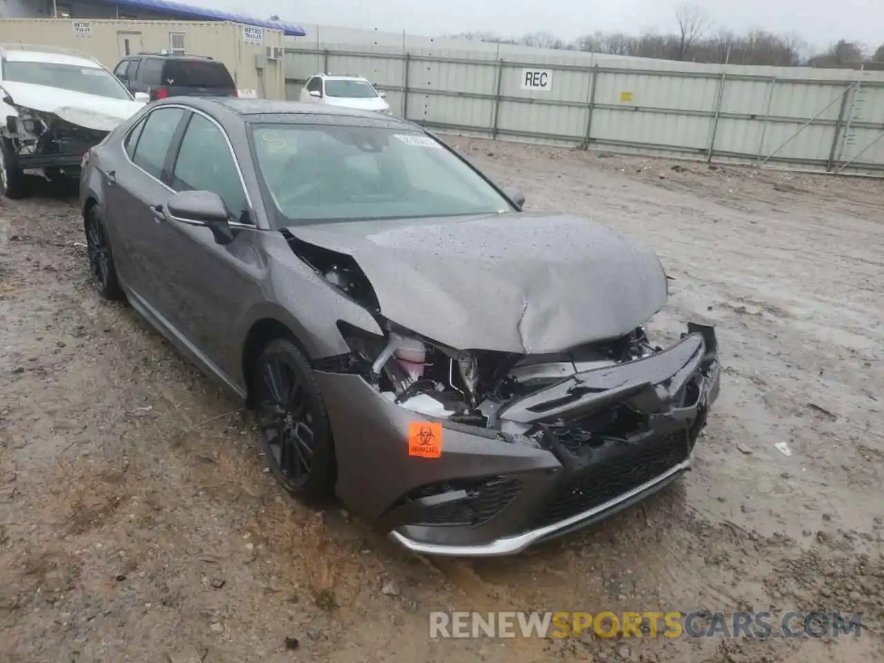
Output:
[[[267,18],[279,14],[296,23],[405,29],[431,36],[488,31],[518,36],[546,30],[564,39],[581,34],[672,32],[674,6],[668,0],[191,0],[205,6]],[[884,42],[882,0],[699,0],[716,28],[744,32],[763,27],[800,34],[825,47],[839,39],[877,47]]]

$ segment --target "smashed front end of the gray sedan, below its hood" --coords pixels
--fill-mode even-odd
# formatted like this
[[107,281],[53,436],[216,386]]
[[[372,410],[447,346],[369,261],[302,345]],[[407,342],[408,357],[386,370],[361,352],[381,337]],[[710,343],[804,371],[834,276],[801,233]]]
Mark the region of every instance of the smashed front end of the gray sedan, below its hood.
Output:
[[[350,352],[315,368],[339,495],[400,544],[443,555],[519,552],[690,469],[719,392],[712,327],[689,324],[666,349],[643,326],[554,353],[448,347],[385,318],[352,256],[287,239],[382,331],[339,322]],[[431,453],[420,445],[412,453],[424,435],[436,438]]]

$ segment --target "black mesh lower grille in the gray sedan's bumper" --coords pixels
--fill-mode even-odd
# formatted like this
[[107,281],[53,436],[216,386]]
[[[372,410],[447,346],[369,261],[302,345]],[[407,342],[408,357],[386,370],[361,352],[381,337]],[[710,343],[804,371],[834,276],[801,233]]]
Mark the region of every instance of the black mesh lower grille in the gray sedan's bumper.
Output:
[[591,465],[562,485],[537,516],[535,526],[565,520],[651,481],[686,460],[688,449],[687,433],[677,432]]

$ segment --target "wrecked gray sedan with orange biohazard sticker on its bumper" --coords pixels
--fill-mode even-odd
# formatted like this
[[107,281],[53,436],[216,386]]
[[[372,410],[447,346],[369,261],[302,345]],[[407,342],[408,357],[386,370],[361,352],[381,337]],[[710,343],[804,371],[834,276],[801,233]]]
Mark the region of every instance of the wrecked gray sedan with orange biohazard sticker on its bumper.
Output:
[[672,347],[651,250],[522,211],[418,126],[296,103],[152,103],[83,159],[103,297],[255,411],[278,481],[400,544],[502,555],[690,468],[712,328]]

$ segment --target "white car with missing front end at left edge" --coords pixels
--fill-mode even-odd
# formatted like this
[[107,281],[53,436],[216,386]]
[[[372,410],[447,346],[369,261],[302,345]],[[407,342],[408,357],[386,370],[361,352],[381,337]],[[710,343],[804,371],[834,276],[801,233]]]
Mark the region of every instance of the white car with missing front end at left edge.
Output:
[[79,51],[0,47],[0,194],[27,195],[26,173],[79,178],[83,155],[140,110],[144,96]]

